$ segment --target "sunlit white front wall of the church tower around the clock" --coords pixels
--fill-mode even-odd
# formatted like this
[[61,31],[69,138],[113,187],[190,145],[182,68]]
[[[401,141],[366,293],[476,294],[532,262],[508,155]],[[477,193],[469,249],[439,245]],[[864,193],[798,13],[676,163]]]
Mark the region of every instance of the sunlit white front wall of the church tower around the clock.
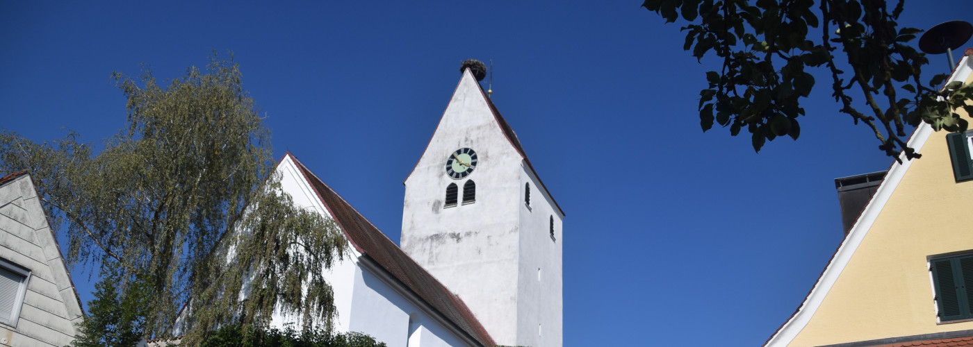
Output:
[[[471,148],[474,172],[446,175],[450,154]],[[515,344],[520,232],[518,196],[522,157],[497,124],[477,81],[467,72],[450,99],[425,152],[406,180],[401,245],[414,260],[462,297],[499,343]],[[473,180],[477,198],[462,204]],[[450,183],[460,203],[444,207]]]

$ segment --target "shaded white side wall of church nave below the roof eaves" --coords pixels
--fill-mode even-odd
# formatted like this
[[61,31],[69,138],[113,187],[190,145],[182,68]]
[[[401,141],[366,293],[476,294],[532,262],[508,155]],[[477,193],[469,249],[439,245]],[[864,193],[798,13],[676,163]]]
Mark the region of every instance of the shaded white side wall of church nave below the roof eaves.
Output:
[[356,266],[351,330],[367,333],[388,347],[469,345],[435,320],[431,316],[434,313],[404,295],[404,289],[393,288],[396,285],[383,277],[361,266],[361,262]]

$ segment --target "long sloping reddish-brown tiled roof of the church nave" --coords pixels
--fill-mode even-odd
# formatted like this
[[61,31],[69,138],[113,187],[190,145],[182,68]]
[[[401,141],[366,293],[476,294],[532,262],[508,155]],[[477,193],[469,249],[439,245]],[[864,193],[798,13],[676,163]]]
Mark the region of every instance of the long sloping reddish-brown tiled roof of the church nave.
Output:
[[335,222],[342,228],[348,241],[359,253],[378,262],[385,271],[406,288],[409,288],[415,295],[418,295],[439,311],[443,317],[449,319],[452,324],[478,342],[484,346],[495,345],[486,329],[458,295],[452,294],[446,286],[406,255],[395,242],[392,242],[388,236],[378,230],[378,227],[365,219],[342,196],[310,172],[297,157],[289,152],[285,156],[290,156],[294,160],[321,203],[328,209]]

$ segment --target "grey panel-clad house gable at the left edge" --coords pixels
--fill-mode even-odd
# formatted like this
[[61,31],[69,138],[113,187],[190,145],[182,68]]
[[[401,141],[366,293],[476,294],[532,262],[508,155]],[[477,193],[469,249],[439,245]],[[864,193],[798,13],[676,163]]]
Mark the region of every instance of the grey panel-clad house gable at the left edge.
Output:
[[26,171],[0,178],[0,346],[64,346],[81,320],[33,180]]

